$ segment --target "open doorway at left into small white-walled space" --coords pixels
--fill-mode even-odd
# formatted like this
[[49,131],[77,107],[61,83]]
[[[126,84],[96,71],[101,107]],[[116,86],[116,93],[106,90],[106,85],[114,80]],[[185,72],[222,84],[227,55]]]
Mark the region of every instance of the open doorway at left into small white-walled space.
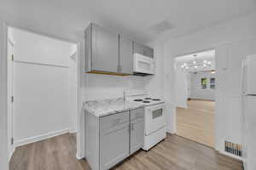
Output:
[[77,44],[15,27],[8,28],[7,44],[9,170],[54,160],[63,141],[75,156]]

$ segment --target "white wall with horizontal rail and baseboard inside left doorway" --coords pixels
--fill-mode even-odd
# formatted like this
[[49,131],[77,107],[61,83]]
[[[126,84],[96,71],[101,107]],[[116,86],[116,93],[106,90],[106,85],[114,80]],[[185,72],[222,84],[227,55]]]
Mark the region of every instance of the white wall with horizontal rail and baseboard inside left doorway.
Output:
[[76,45],[19,29],[9,31],[15,42],[15,145],[75,131],[71,117],[76,114],[72,116],[71,110],[76,104],[69,101],[76,99],[76,63],[70,59]]

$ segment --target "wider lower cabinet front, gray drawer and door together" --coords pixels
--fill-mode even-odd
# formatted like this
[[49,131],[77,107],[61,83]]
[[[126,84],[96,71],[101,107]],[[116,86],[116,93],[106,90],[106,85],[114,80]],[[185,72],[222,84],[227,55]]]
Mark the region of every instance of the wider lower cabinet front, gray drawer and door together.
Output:
[[100,127],[100,169],[105,170],[129,156],[129,113],[101,118]]

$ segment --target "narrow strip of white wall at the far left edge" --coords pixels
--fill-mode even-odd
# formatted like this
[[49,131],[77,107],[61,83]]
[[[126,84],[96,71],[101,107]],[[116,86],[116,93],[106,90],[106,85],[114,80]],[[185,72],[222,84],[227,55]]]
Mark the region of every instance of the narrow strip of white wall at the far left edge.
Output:
[[7,29],[0,20],[0,169],[8,170],[7,144]]

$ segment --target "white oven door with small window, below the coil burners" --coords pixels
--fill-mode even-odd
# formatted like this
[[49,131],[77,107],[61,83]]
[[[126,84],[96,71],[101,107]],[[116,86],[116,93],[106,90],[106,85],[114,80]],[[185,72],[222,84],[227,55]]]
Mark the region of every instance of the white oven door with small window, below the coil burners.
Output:
[[145,108],[145,134],[154,133],[166,126],[166,105],[151,105]]

